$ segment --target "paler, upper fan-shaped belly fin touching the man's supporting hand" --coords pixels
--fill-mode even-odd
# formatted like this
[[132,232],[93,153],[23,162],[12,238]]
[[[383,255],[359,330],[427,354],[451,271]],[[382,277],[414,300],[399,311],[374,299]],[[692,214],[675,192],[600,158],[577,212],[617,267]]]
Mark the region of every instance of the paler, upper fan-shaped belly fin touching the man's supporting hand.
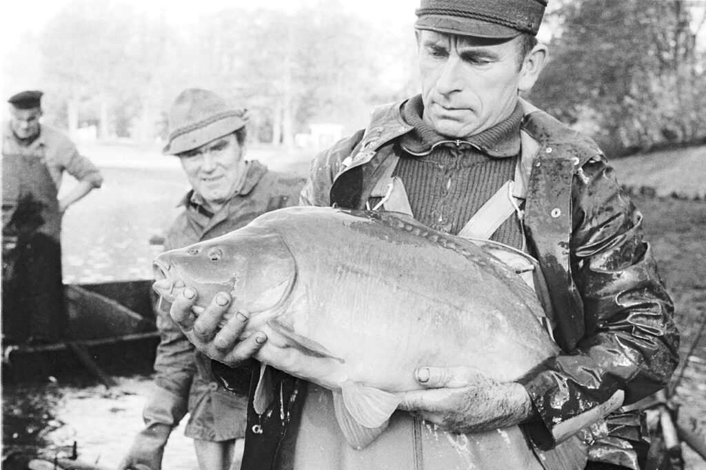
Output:
[[381,426],[402,401],[398,394],[384,392],[351,380],[342,383],[341,392],[348,412],[366,428]]

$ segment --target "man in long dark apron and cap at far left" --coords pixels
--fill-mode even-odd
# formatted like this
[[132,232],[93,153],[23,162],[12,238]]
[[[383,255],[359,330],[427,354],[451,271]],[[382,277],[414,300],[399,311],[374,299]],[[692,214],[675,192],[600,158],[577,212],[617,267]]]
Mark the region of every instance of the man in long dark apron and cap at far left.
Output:
[[[68,318],[61,282],[61,217],[103,183],[97,167],[40,123],[42,92],[10,97],[2,143],[4,344],[56,342]],[[64,172],[78,184],[57,198]]]

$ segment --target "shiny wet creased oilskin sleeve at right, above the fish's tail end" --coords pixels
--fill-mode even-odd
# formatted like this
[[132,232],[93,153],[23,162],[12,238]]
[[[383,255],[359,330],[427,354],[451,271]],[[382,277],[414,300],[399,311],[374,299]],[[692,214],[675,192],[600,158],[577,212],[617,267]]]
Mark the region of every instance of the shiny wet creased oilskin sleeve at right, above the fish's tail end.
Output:
[[643,240],[642,215],[604,159],[575,174],[571,197],[571,279],[585,336],[523,381],[551,433],[542,447],[657,392],[678,363],[674,305]]

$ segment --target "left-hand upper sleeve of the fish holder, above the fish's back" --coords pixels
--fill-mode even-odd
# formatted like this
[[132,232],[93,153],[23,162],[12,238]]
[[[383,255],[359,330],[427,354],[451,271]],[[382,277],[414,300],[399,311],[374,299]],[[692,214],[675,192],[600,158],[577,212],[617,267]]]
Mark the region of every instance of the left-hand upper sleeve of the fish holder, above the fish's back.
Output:
[[364,131],[358,131],[348,138],[339,140],[333,147],[316,155],[309,164],[309,177],[299,195],[299,205],[328,207],[333,180],[344,167],[363,138]]

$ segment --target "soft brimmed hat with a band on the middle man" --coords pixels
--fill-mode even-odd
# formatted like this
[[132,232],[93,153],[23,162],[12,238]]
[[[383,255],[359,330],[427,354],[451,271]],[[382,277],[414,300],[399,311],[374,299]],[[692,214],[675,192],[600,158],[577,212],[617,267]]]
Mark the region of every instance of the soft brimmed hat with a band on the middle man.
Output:
[[189,88],[169,111],[169,142],[164,154],[177,155],[201,147],[245,126],[245,109],[234,109],[214,92]]

